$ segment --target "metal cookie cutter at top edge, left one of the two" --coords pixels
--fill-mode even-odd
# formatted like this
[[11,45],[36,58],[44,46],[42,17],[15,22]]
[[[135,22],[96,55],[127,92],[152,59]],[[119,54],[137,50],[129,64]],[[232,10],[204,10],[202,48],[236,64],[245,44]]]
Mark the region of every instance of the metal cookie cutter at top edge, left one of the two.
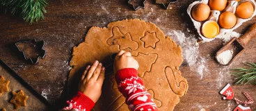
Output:
[[128,5],[134,8],[134,10],[138,10],[145,8],[145,2],[146,0],[129,0]]

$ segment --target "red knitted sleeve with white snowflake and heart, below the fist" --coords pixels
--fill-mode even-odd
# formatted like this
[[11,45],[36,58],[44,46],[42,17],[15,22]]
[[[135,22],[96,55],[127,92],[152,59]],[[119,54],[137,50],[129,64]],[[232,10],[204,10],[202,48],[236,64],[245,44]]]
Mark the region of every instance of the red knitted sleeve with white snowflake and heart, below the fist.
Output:
[[138,77],[136,69],[121,69],[115,75],[119,91],[125,96],[131,111],[157,111],[157,105],[143,85],[142,78]]

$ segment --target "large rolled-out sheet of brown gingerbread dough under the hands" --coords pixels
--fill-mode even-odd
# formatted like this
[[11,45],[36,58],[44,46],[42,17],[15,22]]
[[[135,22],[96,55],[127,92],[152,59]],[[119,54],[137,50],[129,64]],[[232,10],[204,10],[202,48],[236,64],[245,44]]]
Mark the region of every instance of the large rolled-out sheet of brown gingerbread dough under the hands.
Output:
[[[107,28],[90,28],[85,41],[73,49],[68,79],[70,93],[77,91],[74,86],[77,86],[86,65],[92,64],[94,60],[111,65],[113,61],[110,56],[120,49],[130,51],[138,60],[138,75],[143,78],[159,110],[173,110],[189,87],[178,69],[183,62],[182,49],[156,25],[141,19],[111,22]],[[105,76],[102,95],[94,110],[128,111],[125,97],[116,86],[113,74]]]

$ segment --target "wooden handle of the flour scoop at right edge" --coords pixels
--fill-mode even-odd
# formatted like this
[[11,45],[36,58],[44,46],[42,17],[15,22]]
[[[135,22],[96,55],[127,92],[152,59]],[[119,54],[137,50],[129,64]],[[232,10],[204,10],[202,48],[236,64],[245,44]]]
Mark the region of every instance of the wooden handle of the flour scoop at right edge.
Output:
[[241,37],[239,37],[239,40],[243,42],[244,45],[246,45],[253,37],[256,36],[256,23],[250,26],[248,31]]

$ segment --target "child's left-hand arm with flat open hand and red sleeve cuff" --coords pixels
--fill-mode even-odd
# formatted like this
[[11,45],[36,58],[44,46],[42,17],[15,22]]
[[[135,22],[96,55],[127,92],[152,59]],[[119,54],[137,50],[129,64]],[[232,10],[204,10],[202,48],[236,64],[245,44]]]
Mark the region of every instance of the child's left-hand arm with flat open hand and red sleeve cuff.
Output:
[[97,60],[90,67],[86,67],[79,82],[79,92],[62,110],[92,110],[99,96],[102,94],[105,68]]

